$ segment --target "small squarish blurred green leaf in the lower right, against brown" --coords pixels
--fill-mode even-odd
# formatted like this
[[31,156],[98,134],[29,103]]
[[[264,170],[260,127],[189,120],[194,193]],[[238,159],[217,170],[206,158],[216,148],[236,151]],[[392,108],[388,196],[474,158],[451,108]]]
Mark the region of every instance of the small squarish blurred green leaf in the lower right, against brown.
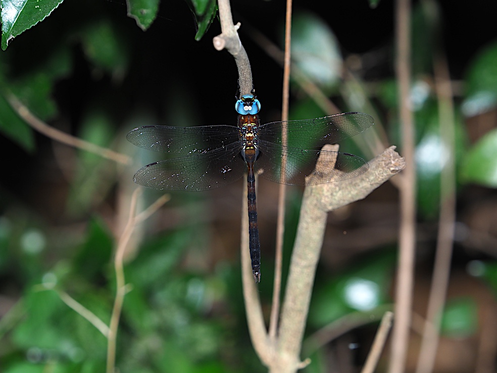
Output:
[[440,332],[450,338],[467,338],[476,333],[478,306],[472,298],[451,300],[442,313]]

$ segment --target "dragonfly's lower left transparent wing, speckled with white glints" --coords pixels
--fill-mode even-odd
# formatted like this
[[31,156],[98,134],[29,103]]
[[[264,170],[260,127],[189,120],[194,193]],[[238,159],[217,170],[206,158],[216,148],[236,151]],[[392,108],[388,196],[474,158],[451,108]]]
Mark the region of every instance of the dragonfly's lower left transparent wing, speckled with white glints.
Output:
[[159,190],[200,192],[239,179],[246,169],[240,144],[214,151],[155,162],[139,169],[134,181]]

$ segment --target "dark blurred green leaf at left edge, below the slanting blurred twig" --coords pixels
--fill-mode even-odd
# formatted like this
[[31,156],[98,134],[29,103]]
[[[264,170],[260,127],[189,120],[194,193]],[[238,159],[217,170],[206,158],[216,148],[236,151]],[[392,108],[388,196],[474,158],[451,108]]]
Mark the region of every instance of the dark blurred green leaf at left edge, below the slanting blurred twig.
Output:
[[12,109],[4,96],[0,95],[0,131],[24,150],[34,150],[34,134],[30,126]]

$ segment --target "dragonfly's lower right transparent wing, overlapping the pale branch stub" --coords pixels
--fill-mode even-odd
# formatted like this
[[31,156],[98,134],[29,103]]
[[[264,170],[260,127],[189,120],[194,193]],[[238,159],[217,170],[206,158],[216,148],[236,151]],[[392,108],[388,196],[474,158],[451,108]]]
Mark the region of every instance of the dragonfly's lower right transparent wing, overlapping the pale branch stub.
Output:
[[[259,141],[255,162],[264,178],[288,185],[315,185],[356,177],[369,169],[368,162],[349,153],[287,148]],[[285,159],[285,164],[282,160]],[[306,180],[306,176],[313,177]]]

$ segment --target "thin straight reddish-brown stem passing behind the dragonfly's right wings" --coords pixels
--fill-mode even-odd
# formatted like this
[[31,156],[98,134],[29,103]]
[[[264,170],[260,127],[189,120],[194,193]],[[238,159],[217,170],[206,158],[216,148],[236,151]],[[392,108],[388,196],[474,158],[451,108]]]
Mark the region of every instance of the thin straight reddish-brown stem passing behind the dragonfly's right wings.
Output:
[[[291,6],[292,0],[286,1],[286,23],[285,23],[285,56],[283,64],[283,102],[281,109],[281,120],[288,120],[288,106],[290,95],[290,56],[291,56]],[[287,133],[281,133],[281,145],[286,146],[288,142]],[[282,175],[286,168],[286,158],[281,158]],[[280,308],[280,294],[281,294],[281,268],[283,263],[283,235],[285,232],[285,199],[286,199],[286,185],[281,183],[279,185],[278,196],[278,221],[276,223],[276,253],[275,253],[275,268],[274,268],[274,284],[273,284],[273,300],[271,308],[271,316],[269,322],[269,337],[276,338],[276,330],[278,326],[278,315]]]

